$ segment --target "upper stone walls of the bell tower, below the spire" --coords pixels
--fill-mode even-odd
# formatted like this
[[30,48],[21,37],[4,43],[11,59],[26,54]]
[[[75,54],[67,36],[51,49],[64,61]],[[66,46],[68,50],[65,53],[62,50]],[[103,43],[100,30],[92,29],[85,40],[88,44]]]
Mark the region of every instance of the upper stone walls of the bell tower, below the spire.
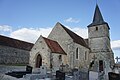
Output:
[[109,28],[106,24],[88,28],[89,47],[92,52],[110,51]]

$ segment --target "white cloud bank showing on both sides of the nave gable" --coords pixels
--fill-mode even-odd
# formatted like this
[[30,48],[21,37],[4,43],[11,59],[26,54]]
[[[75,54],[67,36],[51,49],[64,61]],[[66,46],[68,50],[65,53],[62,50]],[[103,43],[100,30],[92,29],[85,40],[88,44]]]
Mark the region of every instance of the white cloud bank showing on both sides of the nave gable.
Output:
[[[79,36],[81,36],[83,38],[87,38],[87,29],[80,28],[80,27],[75,27],[75,28],[68,27],[68,28],[70,30],[72,30],[73,32],[75,32],[76,34],[78,34]],[[19,40],[23,40],[23,41],[27,41],[27,42],[35,43],[40,35],[47,37],[50,34],[51,30],[52,30],[51,27],[37,28],[37,29],[21,28],[21,29],[11,32],[10,37],[19,39]]]

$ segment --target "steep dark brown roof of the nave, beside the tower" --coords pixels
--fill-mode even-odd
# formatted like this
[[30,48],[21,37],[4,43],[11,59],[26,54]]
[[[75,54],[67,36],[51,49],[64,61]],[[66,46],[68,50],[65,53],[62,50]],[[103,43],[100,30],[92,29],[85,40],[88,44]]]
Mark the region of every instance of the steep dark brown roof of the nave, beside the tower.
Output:
[[[58,22],[59,23],[59,22]],[[76,33],[72,32],[71,30],[69,30],[68,28],[66,28],[65,26],[63,26],[61,23],[59,23],[63,28],[64,30],[70,35],[70,37],[73,39],[73,41],[75,43],[78,43],[86,48],[89,48],[87,43],[85,42],[85,40],[80,37],[79,35],[77,35]]]

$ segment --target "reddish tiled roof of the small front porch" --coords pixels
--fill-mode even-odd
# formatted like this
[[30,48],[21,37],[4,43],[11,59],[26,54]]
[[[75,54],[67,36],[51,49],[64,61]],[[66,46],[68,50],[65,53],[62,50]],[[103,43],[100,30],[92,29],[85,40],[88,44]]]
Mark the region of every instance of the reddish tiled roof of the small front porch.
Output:
[[47,43],[48,47],[51,49],[52,53],[59,53],[66,55],[65,51],[62,49],[62,47],[58,44],[58,42],[53,41],[51,39],[43,37],[45,42]]

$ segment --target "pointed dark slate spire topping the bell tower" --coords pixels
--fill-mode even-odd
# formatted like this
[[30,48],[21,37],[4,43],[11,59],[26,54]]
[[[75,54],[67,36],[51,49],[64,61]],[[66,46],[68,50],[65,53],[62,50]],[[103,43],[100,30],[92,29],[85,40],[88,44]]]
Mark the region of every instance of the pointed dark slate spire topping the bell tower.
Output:
[[100,25],[100,24],[105,24],[105,23],[106,22],[104,21],[104,19],[102,17],[100,9],[99,9],[98,5],[96,4],[93,22],[89,26]]

